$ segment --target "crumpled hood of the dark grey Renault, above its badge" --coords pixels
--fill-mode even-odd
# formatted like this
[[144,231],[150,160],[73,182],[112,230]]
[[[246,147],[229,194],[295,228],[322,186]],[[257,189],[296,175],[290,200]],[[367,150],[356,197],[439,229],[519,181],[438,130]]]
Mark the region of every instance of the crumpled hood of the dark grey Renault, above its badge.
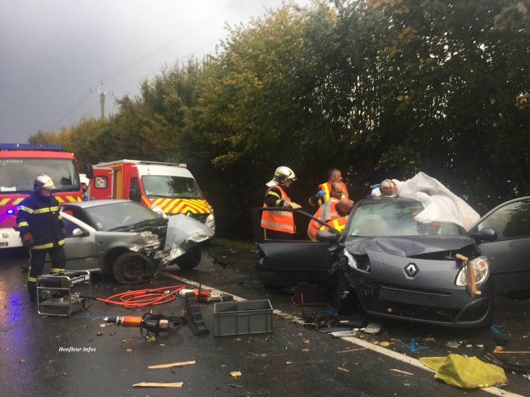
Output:
[[346,239],[346,250],[353,255],[365,255],[366,251],[386,252],[396,256],[413,257],[432,252],[461,250],[473,245],[469,236],[413,236],[370,237]]

